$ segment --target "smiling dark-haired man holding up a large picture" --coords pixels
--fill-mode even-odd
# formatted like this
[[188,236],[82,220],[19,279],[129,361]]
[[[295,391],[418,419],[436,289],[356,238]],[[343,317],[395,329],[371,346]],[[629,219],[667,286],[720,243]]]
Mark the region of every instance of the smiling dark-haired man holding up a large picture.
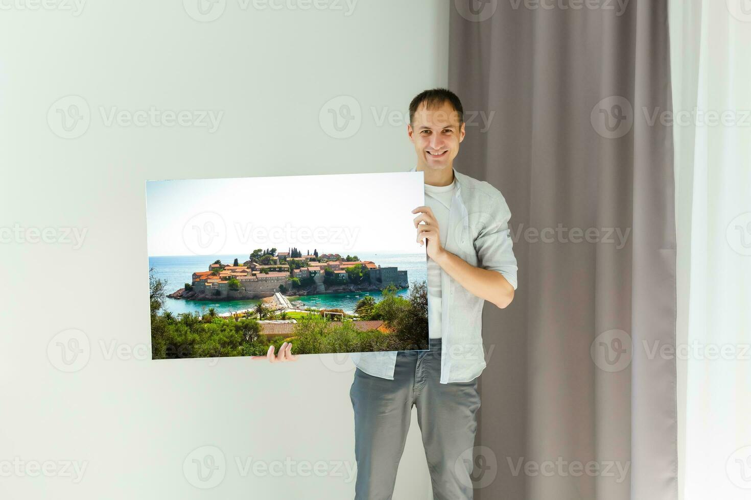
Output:
[[[407,133],[424,172],[427,206],[415,208],[416,240],[427,244],[429,351],[351,355],[355,499],[391,499],[409,430],[418,412],[435,499],[472,499],[471,457],[480,407],[477,377],[485,367],[484,301],[504,308],[514,299],[517,262],[511,212],[499,190],[454,170],[466,130],[451,91],[418,94]],[[291,346],[270,361],[294,361]],[[464,455],[463,455],[464,454]]]

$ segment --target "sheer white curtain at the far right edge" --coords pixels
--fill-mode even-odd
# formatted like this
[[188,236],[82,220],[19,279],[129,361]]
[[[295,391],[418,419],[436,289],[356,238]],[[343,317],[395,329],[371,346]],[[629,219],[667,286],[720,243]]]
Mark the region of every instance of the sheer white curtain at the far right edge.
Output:
[[674,0],[680,496],[751,498],[751,0]]

